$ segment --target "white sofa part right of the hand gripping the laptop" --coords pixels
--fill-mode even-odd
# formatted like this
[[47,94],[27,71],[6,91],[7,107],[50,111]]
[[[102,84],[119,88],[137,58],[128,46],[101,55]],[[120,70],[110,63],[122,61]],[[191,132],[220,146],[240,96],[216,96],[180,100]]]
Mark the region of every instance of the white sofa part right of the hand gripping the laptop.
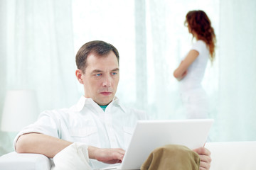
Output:
[[212,162],[210,170],[256,169],[256,141],[252,142],[208,142]]

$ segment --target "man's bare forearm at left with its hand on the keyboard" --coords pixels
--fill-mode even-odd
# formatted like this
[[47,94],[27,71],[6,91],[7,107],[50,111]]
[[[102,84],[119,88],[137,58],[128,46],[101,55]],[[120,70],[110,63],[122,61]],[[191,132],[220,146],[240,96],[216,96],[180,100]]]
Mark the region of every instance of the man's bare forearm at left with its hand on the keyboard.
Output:
[[[56,137],[43,135],[40,133],[28,133],[21,135],[16,143],[16,152],[18,153],[36,153],[44,154],[46,157],[53,158],[62,149],[68,147],[73,142],[60,140]],[[124,150],[117,149],[101,149],[98,147],[88,146],[88,154],[90,159],[97,159],[107,164],[115,164],[122,162]]]

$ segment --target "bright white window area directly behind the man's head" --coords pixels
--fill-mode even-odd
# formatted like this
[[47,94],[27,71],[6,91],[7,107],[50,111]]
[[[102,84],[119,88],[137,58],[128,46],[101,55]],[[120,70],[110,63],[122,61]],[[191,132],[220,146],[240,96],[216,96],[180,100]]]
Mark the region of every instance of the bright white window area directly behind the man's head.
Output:
[[137,100],[134,19],[134,1],[73,1],[75,52],[90,40],[117,47],[121,74],[117,96],[128,106],[134,106]]

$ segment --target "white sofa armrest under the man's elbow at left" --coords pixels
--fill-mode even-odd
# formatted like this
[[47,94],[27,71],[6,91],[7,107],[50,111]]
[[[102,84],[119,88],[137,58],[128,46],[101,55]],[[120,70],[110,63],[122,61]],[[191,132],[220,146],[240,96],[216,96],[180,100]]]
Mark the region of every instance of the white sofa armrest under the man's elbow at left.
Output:
[[43,154],[18,154],[11,152],[0,157],[0,169],[50,170],[52,161]]

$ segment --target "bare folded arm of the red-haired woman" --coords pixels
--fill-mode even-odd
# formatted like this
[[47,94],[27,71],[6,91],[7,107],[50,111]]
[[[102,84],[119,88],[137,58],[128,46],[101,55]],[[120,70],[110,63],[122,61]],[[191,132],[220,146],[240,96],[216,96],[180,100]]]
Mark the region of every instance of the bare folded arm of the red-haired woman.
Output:
[[186,77],[188,67],[196,60],[199,52],[196,50],[191,50],[188,52],[186,58],[179,64],[178,68],[174,71],[174,77],[180,81],[184,77]]

